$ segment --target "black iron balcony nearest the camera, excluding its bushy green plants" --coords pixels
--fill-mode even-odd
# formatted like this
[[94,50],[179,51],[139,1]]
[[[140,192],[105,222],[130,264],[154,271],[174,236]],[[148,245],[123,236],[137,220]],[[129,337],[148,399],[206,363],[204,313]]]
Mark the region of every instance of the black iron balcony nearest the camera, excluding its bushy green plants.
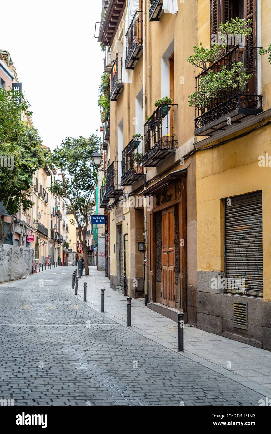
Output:
[[262,95],[257,95],[258,49],[259,47],[254,46],[236,46],[196,77],[196,92],[198,92],[202,89],[202,78],[210,71],[213,73],[221,71],[224,66],[227,70],[231,70],[233,63],[242,62],[247,74],[252,74],[243,89],[238,83],[236,89],[221,90],[216,97],[205,95],[207,101],[205,105],[195,108],[195,135],[212,136],[223,129],[227,129],[229,134],[231,125],[262,112]]

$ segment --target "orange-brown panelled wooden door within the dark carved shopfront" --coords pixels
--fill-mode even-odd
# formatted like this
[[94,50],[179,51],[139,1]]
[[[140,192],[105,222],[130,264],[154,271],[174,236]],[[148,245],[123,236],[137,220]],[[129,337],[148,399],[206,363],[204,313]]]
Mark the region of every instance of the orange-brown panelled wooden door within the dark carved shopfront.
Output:
[[175,207],[162,211],[161,301],[175,307]]

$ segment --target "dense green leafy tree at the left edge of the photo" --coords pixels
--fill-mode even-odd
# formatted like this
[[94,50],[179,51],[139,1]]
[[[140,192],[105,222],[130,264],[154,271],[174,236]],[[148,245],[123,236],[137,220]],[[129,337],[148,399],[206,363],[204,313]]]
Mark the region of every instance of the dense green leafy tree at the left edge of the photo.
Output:
[[[13,217],[21,207],[26,211],[32,206],[30,190],[33,175],[46,165],[42,141],[33,127],[21,121],[21,113],[31,115],[23,95],[14,89],[0,88],[0,242],[3,244]],[[4,231],[2,216],[11,216]]]

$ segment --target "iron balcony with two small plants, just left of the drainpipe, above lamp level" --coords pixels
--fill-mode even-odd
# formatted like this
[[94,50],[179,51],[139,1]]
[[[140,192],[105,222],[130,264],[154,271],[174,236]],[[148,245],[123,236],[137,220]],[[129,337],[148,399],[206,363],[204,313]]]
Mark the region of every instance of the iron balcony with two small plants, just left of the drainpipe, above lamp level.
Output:
[[139,178],[143,178],[142,140],[133,138],[122,151],[122,185],[132,185]]

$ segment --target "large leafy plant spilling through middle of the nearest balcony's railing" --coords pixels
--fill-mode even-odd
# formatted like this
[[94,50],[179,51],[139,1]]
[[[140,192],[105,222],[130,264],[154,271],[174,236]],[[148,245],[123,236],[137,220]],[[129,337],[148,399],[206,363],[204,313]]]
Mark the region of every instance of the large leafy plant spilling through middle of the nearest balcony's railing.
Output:
[[188,96],[190,106],[206,107],[213,98],[222,97],[232,89],[236,92],[248,92],[248,81],[252,74],[247,74],[242,62],[232,64],[231,69],[222,67],[221,71],[208,73],[202,77],[198,92]]

